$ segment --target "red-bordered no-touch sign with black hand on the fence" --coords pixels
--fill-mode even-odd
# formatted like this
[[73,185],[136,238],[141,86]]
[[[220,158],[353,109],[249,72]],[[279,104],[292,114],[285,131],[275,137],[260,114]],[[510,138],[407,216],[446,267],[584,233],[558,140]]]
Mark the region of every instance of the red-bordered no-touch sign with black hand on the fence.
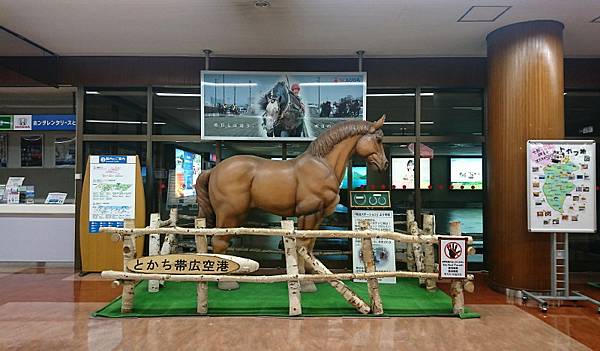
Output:
[[467,278],[467,238],[460,236],[440,237],[440,279]]

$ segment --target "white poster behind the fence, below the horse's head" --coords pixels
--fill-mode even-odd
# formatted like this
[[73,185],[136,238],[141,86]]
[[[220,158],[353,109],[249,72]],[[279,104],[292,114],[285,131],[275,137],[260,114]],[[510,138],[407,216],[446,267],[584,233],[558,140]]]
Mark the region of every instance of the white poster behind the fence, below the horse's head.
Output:
[[[353,210],[352,230],[360,230],[363,221],[369,222],[370,230],[394,231],[393,211]],[[371,239],[376,272],[394,272],[396,270],[396,248],[394,240]],[[352,238],[352,272],[364,273],[365,265],[362,260],[361,239]],[[355,282],[366,282],[366,279],[355,279]],[[395,284],[396,277],[379,278],[380,283]]]

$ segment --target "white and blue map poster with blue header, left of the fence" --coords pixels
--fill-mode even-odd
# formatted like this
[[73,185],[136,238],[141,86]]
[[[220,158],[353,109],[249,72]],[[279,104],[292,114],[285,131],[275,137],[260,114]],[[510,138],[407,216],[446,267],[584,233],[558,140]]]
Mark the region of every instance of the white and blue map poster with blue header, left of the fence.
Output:
[[135,170],[135,156],[90,156],[90,233],[135,218]]

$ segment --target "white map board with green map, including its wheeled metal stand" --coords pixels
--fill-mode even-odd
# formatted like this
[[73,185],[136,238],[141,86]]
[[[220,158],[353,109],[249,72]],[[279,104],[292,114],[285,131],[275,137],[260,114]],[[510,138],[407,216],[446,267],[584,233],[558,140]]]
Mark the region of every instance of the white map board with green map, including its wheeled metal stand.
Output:
[[551,233],[550,295],[522,290],[523,302],[600,301],[571,291],[569,233],[596,233],[596,145],[592,140],[527,142],[527,222],[530,232]]

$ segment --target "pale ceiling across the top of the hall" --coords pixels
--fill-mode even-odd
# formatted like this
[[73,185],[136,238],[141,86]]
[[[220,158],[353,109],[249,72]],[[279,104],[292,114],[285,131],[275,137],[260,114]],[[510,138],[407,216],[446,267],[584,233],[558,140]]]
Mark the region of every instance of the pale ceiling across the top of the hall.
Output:
[[[473,5],[511,8],[457,22]],[[476,10],[465,19],[500,9]],[[554,19],[567,57],[600,57],[597,17],[599,0],[0,0],[0,25],[58,55],[485,56],[494,29]],[[31,52],[6,40],[0,55]]]

